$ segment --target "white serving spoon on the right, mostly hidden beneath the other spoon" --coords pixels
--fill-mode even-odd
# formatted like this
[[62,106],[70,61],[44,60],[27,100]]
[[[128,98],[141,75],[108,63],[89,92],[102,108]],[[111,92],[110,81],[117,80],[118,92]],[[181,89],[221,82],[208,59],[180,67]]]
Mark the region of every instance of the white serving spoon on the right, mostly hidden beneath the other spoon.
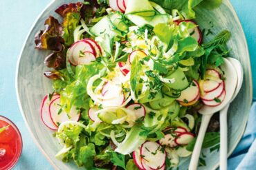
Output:
[[[244,77],[244,71],[243,67],[241,67],[241,63],[237,59],[233,59],[228,57],[228,61],[235,67],[235,70],[237,72],[237,86],[235,89],[235,93],[232,96],[232,99],[230,100],[230,103],[232,100],[235,99],[237,94],[239,93],[241,89],[241,85],[243,83],[243,77]],[[235,76],[235,75],[234,75]],[[228,159],[228,107],[230,106],[230,103],[226,105],[223,109],[221,109],[219,113],[219,120],[220,120],[220,134],[221,134],[221,143],[220,143],[220,157],[219,157],[219,169],[220,170],[226,170],[228,167],[227,159]]]

